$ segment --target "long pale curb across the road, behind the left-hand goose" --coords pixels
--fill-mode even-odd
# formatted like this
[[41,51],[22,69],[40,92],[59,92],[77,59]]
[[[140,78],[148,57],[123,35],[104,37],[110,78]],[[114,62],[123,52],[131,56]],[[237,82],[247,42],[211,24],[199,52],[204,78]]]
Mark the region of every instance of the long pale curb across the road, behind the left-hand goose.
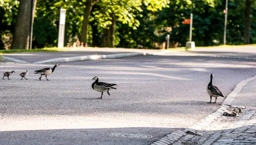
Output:
[[63,63],[63,62],[73,62],[73,61],[81,61],[81,60],[113,59],[113,58],[135,57],[135,56],[145,56],[145,55],[150,55],[150,54],[148,54],[148,53],[125,53],[125,54],[110,54],[110,55],[89,55],[89,56],[79,56],[79,57],[60,57],[60,58],[35,62],[34,64]]

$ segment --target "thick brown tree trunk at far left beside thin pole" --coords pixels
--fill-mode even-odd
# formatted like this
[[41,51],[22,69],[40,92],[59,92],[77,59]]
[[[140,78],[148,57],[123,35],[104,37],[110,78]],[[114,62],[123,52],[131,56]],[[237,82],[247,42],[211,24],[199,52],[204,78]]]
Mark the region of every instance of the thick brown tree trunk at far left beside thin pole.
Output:
[[[36,1],[34,0],[34,22]],[[12,49],[29,49],[29,28],[32,0],[20,0],[18,14],[13,34]]]

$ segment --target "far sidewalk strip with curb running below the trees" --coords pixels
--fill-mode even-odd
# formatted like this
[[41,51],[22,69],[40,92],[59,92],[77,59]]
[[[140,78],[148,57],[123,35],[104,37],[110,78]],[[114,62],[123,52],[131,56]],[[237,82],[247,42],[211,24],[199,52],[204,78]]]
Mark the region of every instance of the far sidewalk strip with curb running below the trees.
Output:
[[63,48],[63,51],[2,54],[18,63],[61,63],[83,60],[134,57],[143,55],[224,57],[256,60],[256,46],[196,48],[194,51],[131,48]]

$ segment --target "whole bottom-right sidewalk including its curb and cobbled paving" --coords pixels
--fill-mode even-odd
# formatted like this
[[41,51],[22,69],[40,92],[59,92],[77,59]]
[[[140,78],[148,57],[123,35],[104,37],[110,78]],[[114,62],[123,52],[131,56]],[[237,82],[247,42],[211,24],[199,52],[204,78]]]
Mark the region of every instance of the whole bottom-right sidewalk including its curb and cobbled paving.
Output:
[[[256,77],[253,77],[241,88],[230,105],[221,105],[201,122],[184,131],[175,131],[151,145],[256,145],[255,94]],[[232,111],[237,106],[244,108],[239,117],[222,115],[223,111]]]

